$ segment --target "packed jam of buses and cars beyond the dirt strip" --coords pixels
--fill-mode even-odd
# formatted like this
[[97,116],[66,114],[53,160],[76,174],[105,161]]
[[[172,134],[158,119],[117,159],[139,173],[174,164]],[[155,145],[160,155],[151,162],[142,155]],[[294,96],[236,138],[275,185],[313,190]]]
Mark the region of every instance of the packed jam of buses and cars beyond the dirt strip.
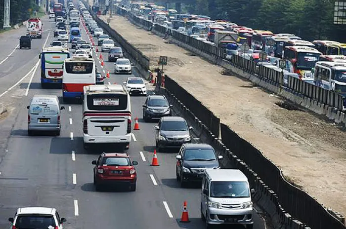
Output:
[[178,14],[175,9],[145,2],[122,1],[131,13],[224,50],[224,58],[239,55],[287,76],[346,96],[346,43],[307,41],[295,34],[253,30],[205,15]]

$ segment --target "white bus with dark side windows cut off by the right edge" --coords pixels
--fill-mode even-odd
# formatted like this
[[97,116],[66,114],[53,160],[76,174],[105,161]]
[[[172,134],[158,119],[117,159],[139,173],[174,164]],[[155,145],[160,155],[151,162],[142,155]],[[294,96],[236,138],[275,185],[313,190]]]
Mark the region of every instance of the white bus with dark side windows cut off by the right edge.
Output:
[[[315,85],[346,97],[346,62],[318,61],[314,70]],[[344,107],[345,107],[344,100]]]

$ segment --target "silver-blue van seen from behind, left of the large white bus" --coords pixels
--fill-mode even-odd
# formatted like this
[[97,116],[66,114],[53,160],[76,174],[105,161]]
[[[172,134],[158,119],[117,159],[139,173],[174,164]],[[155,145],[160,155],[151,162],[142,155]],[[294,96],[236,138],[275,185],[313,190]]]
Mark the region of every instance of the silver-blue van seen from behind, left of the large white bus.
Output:
[[34,131],[52,131],[60,135],[60,107],[59,99],[55,95],[34,95],[28,111],[28,135]]

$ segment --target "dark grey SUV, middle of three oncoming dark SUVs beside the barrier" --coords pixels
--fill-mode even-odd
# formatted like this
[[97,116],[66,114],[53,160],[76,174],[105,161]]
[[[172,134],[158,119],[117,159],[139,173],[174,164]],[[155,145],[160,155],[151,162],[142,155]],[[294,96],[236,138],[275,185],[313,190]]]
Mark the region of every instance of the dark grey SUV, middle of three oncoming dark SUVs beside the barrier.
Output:
[[185,119],[178,116],[162,117],[156,129],[156,149],[162,151],[166,148],[180,148],[184,143],[191,142],[190,130]]

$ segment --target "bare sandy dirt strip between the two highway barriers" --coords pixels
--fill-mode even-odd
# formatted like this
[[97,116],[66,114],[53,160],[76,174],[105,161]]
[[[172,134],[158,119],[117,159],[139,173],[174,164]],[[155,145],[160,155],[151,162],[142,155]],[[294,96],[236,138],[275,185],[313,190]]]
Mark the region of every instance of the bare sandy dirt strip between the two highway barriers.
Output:
[[[168,56],[165,74],[254,144],[291,183],[346,215],[346,133],[224,69],[112,15],[110,26],[150,58]],[[101,16],[106,21],[109,15]],[[113,70],[110,70],[113,71]],[[283,108],[284,107],[284,108]]]

